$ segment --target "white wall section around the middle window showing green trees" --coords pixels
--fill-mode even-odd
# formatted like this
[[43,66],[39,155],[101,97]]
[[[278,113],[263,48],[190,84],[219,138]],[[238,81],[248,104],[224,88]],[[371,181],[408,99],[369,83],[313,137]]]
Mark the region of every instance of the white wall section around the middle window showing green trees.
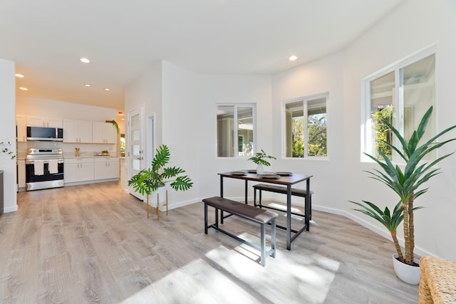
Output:
[[343,142],[345,117],[341,115],[344,110],[342,58],[341,54],[335,54],[320,61],[277,73],[272,78],[272,112],[274,113],[272,146],[276,156],[282,155],[282,147],[284,147],[283,102],[308,95],[329,93],[328,158],[281,158],[274,163],[276,169],[280,171],[312,174],[314,176],[311,179],[311,189],[314,191],[313,208],[335,213],[340,213],[344,204],[344,157],[346,153],[353,152],[351,147],[347,147]]

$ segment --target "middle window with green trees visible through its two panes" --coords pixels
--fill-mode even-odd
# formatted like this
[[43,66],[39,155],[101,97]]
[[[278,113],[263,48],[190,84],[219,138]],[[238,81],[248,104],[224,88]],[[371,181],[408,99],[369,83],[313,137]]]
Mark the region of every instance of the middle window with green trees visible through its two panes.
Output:
[[326,103],[328,94],[287,101],[285,108],[285,156],[326,157]]

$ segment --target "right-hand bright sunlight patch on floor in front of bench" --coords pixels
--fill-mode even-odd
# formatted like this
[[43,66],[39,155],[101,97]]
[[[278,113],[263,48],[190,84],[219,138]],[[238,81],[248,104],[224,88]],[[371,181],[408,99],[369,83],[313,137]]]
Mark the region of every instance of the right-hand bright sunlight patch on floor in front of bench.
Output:
[[289,251],[278,251],[261,267],[238,251],[219,246],[206,256],[273,303],[323,303],[338,269],[338,262],[317,255],[296,263],[287,257]]

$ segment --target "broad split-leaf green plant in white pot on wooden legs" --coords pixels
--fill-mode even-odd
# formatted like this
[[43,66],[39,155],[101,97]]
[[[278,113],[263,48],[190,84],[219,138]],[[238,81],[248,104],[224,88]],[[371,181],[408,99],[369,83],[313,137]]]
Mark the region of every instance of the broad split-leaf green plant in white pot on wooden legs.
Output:
[[170,162],[170,149],[167,145],[161,145],[155,150],[152,167],[142,169],[128,181],[128,186],[133,187],[135,192],[146,195],[147,218],[149,217],[149,195],[152,192],[165,189],[165,184],[167,183],[176,191],[186,191],[193,186],[192,179],[187,175],[182,175],[182,173],[185,173],[184,169],[180,167],[165,167],[168,162]]

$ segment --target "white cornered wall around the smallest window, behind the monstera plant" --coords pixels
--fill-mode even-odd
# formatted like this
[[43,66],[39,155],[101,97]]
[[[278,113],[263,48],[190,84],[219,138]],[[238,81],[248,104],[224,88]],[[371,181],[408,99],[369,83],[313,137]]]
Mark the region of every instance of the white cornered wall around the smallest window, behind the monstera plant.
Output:
[[[269,75],[200,75],[162,61],[125,90],[126,112],[141,103],[146,115],[155,115],[156,146],[168,145],[170,165],[185,169],[194,182],[187,192],[170,192],[170,208],[218,195],[218,172],[253,166],[248,157],[217,159],[217,103],[257,103],[259,147],[271,151]],[[228,183],[225,192],[243,198],[241,188]]]

